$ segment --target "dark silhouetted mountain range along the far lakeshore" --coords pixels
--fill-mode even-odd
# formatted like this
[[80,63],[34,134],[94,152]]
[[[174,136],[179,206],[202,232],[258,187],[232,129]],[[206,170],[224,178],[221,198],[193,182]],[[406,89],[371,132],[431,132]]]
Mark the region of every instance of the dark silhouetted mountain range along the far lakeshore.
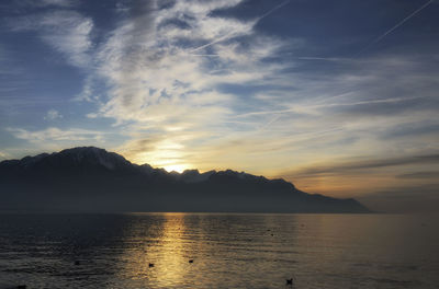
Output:
[[301,192],[235,171],[179,174],[93,147],[0,162],[0,210],[369,212],[354,199]]

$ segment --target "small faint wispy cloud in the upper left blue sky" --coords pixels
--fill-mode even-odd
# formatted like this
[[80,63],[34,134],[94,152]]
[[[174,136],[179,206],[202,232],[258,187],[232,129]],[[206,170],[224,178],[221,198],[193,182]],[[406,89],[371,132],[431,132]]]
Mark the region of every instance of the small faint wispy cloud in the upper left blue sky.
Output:
[[[61,1],[59,1],[61,2]],[[70,10],[56,10],[8,20],[14,32],[35,31],[40,38],[63,54],[70,65],[90,65],[93,21]]]

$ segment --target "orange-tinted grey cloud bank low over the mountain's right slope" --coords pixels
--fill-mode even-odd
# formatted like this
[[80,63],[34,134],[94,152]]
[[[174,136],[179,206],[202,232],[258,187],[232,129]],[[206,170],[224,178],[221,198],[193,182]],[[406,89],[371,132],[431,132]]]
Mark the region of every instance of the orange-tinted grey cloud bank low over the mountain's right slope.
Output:
[[[330,155],[330,159],[313,159],[296,165],[295,170],[283,171],[277,176],[292,181],[299,188],[306,192],[333,195],[337,197],[356,196],[356,198],[365,198],[373,209],[382,210],[387,208],[397,208],[398,199],[384,199],[383,192],[394,192],[401,197],[408,188],[417,194],[421,194],[423,187],[432,185],[436,182],[435,173],[439,167],[439,154],[437,150],[430,154],[406,154],[403,157],[383,155],[378,159],[376,155],[369,158],[346,155]],[[416,189],[415,189],[416,188]],[[398,189],[401,189],[398,192]],[[430,197],[434,197],[437,190],[429,190]],[[386,198],[391,194],[385,195]],[[380,204],[379,198],[383,200]],[[420,196],[420,198],[423,198]],[[394,204],[393,204],[394,203]]]

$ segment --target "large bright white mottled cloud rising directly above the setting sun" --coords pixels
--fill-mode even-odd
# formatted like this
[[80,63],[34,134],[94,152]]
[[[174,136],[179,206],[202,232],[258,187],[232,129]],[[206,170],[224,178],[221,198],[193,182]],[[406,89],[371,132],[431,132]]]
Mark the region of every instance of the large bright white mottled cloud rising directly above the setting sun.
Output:
[[[114,118],[116,125],[133,122],[133,134],[144,131],[144,138],[157,131],[167,134],[167,141],[175,143],[168,158],[181,155],[190,142],[204,142],[200,136],[206,140],[230,130],[225,122],[244,100],[221,86],[272,77],[284,66],[264,59],[290,45],[258,35],[257,18],[211,16],[217,9],[238,3],[185,1],[160,7],[149,2],[131,11],[97,51],[98,77],[108,81],[110,90],[108,100],[100,100],[99,111],[89,117]],[[243,37],[245,45],[239,41]],[[170,131],[194,139],[172,140]]]

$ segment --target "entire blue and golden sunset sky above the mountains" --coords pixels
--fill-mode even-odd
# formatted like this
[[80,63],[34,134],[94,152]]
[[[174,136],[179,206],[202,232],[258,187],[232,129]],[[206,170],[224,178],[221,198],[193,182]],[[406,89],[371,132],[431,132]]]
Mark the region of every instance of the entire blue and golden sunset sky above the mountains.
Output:
[[439,1],[0,1],[0,160],[94,146],[439,208]]

